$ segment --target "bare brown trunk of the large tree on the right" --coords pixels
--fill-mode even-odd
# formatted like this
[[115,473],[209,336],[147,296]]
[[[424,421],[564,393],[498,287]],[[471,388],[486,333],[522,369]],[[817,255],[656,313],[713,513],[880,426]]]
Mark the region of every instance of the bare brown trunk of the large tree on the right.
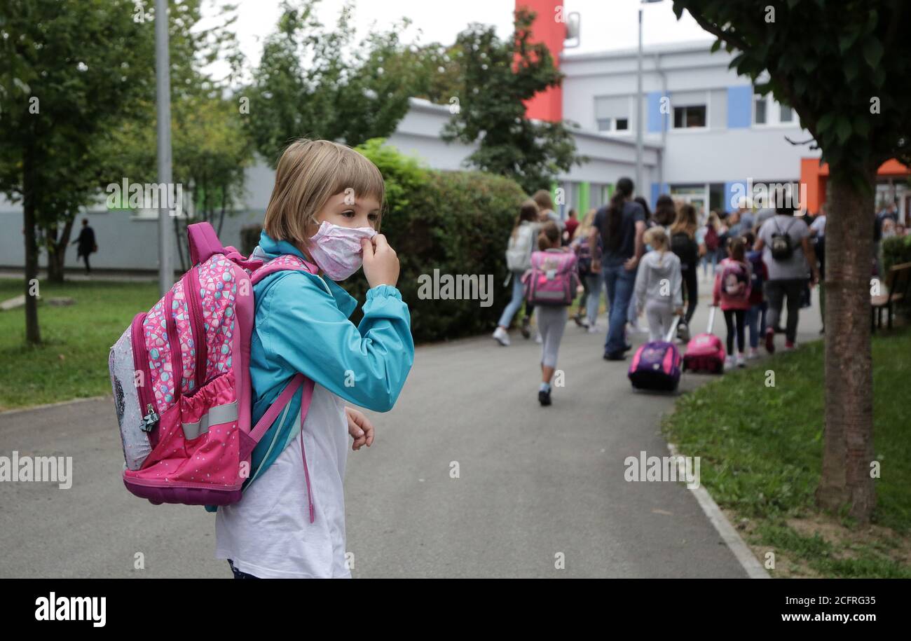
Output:
[[825,428],[822,507],[868,523],[876,504],[873,459],[873,358],[870,277],[873,257],[875,168],[868,192],[832,173],[825,223]]

